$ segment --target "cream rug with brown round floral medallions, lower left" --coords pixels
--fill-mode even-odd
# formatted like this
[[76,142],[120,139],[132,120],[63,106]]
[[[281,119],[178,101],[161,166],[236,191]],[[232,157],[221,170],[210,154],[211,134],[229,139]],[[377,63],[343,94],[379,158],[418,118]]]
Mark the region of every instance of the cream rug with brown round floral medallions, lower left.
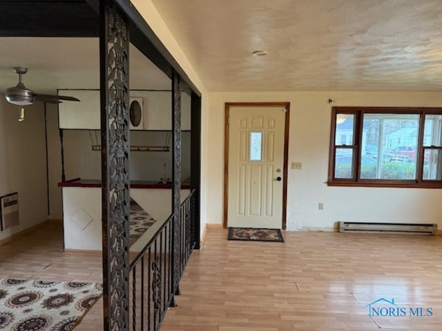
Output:
[[0,330],[72,330],[102,292],[99,283],[0,279]]

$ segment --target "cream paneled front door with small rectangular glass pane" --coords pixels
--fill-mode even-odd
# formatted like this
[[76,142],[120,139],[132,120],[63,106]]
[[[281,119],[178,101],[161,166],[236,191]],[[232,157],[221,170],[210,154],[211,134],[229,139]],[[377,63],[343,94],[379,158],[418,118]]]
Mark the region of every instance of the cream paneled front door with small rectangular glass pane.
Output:
[[231,107],[227,222],[281,228],[285,108]]

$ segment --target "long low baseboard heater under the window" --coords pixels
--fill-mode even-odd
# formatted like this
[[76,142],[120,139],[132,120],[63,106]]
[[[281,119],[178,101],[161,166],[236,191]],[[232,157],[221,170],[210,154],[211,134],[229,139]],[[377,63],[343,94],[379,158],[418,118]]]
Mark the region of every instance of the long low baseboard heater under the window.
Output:
[[339,222],[339,232],[407,232],[436,234],[437,224]]

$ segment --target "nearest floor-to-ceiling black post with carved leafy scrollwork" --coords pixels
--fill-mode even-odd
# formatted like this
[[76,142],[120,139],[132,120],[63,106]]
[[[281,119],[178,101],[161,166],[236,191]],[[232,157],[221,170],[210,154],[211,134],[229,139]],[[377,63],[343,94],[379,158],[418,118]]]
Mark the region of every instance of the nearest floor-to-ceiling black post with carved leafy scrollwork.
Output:
[[124,18],[103,3],[100,79],[104,330],[119,331],[128,330],[129,306],[129,37]]

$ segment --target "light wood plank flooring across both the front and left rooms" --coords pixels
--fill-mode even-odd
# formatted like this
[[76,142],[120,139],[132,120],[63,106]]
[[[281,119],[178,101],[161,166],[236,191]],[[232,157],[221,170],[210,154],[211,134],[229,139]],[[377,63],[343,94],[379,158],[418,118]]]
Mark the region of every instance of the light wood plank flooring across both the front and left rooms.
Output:
[[[193,252],[162,331],[436,331],[442,328],[442,237],[284,232],[285,243],[227,241],[209,229]],[[0,246],[0,278],[101,281],[97,256],[62,254],[46,225]],[[394,299],[431,317],[372,317]],[[102,330],[102,301],[75,331]]]

